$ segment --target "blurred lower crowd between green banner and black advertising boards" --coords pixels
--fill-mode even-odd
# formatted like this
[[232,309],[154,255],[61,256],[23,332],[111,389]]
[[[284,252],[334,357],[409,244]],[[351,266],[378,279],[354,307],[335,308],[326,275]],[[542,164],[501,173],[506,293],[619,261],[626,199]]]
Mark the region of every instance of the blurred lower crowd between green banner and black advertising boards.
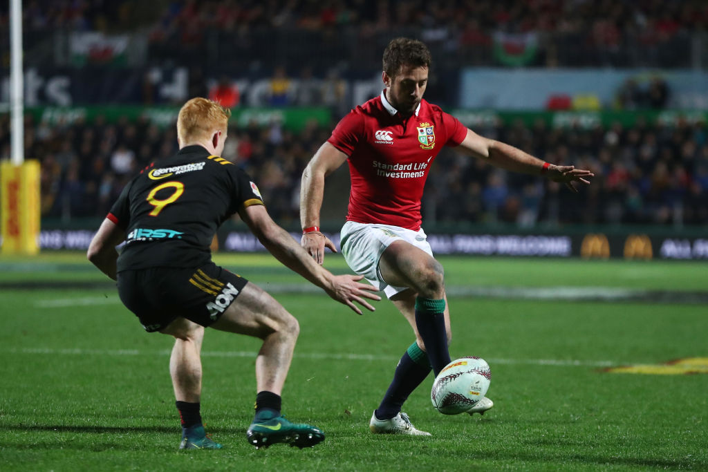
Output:
[[[103,217],[131,175],[176,151],[173,127],[147,120],[47,125],[26,118],[25,155],[42,163],[42,216]],[[475,129],[551,163],[573,164],[597,175],[577,195],[559,185],[498,171],[446,149],[428,178],[426,223],[708,224],[708,129],[678,125],[550,129],[487,125]],[[312,123],[297,133],[277,122],[232,127],[224,157],[256,180],[270,214],[297,225],[304,166],[331,132]],[[9,123],[0,117],[0,159],[9,153]],[[341,217],[343,218],[343,214]]]

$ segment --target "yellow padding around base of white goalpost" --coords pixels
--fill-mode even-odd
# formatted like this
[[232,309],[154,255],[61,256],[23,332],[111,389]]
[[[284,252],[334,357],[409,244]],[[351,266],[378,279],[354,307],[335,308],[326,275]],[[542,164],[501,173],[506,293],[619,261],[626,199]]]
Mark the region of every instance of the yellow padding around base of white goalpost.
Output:
[[0,231],[4,254],[40,251],[40,164],[0,162]]

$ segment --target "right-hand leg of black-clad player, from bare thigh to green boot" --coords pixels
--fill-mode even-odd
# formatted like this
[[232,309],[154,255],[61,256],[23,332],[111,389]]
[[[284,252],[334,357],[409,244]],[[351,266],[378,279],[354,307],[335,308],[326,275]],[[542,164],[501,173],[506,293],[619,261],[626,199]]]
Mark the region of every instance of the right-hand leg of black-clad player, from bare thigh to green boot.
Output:
[[280,413],[280,394],[299,334],[295,317],[263,289],[249,282],[210,327],[263,340],[256,357],[258,394],[256,415],[246,432],[249,444],[259,448],[285,443],[302,448],[324,441],[324,432],[319,428],[290,422]]

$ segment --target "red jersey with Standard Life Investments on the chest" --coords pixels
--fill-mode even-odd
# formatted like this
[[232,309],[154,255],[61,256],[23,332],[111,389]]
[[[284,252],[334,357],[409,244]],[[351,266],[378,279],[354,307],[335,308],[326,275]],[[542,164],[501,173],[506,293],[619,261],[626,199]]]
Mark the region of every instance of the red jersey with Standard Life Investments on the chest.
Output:
[[349,156],[347,220],[418,231],[430,165],[442,146],[457,146],[465,136],[467,127],[426,100],[407,118],[384,93],[351,110],[327,140]]

